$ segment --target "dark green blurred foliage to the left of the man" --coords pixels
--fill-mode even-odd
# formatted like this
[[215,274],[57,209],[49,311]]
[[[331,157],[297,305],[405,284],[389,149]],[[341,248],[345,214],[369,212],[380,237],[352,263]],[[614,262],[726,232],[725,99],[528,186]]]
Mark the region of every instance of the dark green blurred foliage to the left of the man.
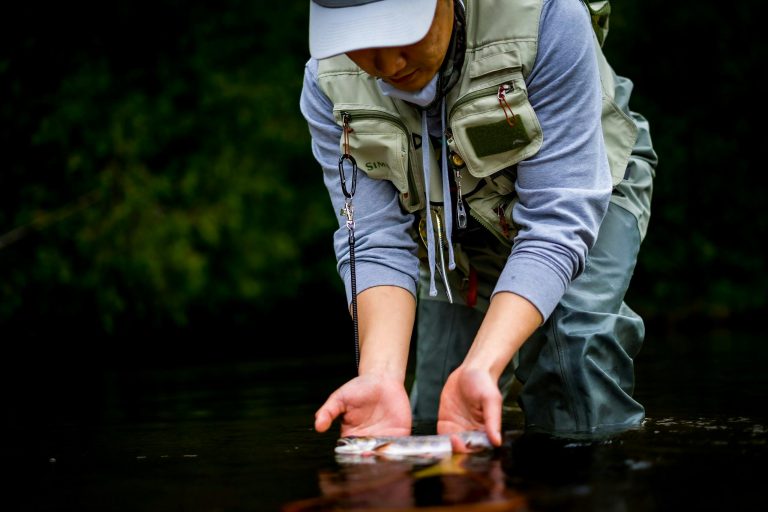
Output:
[[261,7],[19,13],[0,54],[0,321],[244,325],[331,282],[336,220],[298,110],[306,3]]

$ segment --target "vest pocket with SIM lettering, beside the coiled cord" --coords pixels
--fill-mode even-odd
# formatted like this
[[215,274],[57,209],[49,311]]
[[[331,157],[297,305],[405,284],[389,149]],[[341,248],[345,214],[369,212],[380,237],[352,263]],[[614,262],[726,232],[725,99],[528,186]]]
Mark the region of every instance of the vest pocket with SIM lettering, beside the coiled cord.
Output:
[[[334,116],[341,126],[344,114],[349,114],[347,142],[358,169],[371,178],[391,181],[400,192],[400,202],[407,211],[422,208],[424,186],[413,173],[410,133],[405,123],[375,107],[340,106],[334,109]],[[341,154],[345,151],[344,143],[342,136],[339,141]]]

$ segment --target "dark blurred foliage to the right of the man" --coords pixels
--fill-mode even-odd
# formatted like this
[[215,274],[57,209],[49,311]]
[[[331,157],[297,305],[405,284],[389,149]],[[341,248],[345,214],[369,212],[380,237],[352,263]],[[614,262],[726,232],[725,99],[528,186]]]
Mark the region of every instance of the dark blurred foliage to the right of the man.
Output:
[[613,2],[605,51],[635,83],[659,167],[629,301],[646,317],[750,318],[768,305],[754,2]]

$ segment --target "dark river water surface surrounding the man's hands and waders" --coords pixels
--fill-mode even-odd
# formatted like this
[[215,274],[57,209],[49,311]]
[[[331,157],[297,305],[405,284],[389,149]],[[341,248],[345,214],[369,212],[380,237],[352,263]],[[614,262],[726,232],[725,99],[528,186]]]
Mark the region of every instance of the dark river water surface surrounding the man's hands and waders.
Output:
[[653,341],[638,358],[642,427],[553,438],[523,433],[509,407],[500,449],[440,461],[334,456],[338,430],[318,434],[312,419],[349,377],[349,354],[15,359],[4,374],[6,483],[39,511],[754,508],[768,460],[766,349],[724,333]]

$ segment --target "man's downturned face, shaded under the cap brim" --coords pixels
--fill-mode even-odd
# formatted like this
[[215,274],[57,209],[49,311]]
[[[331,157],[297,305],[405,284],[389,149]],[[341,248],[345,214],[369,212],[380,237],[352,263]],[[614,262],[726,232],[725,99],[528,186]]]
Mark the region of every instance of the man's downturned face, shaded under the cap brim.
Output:
[[418,91],[432,80],[448,51],[453,31],[453,1],[438,0],[432,26],[408,46],[366,48],[347,56],[369,75],[404,91]]

